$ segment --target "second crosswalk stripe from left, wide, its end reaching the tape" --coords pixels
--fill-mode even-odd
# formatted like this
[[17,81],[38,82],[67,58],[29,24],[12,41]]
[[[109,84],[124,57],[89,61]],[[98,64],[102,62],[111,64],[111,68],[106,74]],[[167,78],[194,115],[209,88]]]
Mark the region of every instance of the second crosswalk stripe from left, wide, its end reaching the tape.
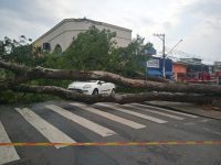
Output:
[[[28,108],[15,108],[15,110],[32,125],[43,136],[45,136],[52,143],[76,143],[72,138],[67,136],[61,130],[46,122],[40,116],[34,113]],[[55,145],[56,148],[64,147],[66,145]]]

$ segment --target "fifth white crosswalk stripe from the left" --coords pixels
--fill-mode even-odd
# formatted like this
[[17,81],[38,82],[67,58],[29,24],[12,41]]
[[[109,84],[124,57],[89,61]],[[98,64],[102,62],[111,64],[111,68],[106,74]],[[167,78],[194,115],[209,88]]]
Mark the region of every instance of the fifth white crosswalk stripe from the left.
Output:
[[154,122],[157,122],[157,123],[168,122],[166,120],[161,120],[161,119],[158,119],[158,118],[155,118],[155,117],[151,117],[151,116],[146,116],[146,114],[138,113],[138,112],[135,112],[135,111],[130,111],[130,110],[119,108],[119,107],[113,106],[113,105],[106,105],[106,103],[96,103],[96,105],[107,107],[107,108],[112,108],[114,110],[117,110],[117,111],[120,111],[120,112],[124,112],[124,113],[128,113],[128,114],[131,114],[131,116],[135,116],[135,117],[139,117],[139,118],[143,118],[143,119],[146,119],[146,120],[150,120],[150,121],[154,121]]

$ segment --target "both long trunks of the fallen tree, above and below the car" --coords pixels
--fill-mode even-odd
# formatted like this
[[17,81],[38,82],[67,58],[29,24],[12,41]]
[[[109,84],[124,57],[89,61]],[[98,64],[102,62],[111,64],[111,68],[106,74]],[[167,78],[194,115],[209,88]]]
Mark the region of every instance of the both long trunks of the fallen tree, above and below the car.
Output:
[[[208,85],[185,85],[173,82],[154,82],[140,79],[130,79],[120,75],[99,72],[99,70],[67,70],[67,69],[51,69],[43,67],[30,68],[13,63],[0,61],[0,67],[14,73],[14,77],[0,81],[0,89],[10,89],[15,92],[34,92],[59,96],[64,99],[75,101],[95,103],[95,102],[143,102],[150,100],[196,102],[196,103],[212,103],[213,100],[220,99],[221,87]],[[130,88],[148,89],[155,92],[141,94],[124,94],[115,96],[86,96],[76,94],[64,88],[54,86],[30,86],[25,82],[33,79],[72,79],[72,80],[92,80],[101,79],[112,81],[119,86]],[[164,91],[164,92],[156,92]],[[167,92],[165,92],[167,91]],[[178,94],[179,92],[179,94]],[[180,94],[182,92],[182,94]]]

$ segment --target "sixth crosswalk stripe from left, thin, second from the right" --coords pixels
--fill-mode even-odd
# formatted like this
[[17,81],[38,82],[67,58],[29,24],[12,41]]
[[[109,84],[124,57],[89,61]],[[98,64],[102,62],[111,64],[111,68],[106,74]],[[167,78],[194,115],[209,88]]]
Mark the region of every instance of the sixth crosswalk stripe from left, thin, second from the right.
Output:
[[160,114],[160,116],[168,117],[168,118],[176,119],[176,120],[183,120],[183,119],[185,119],[185,118],[177,117],[177,116],[172,116],[172,114],[169,114],[169,113],[159,112],[159,111],[154,111],[154,110],[150,110],[150,109],[137,107],[136,105],[133,105],[133,103],[131,103],[131,105],[124,105],[124,107],[140,109],[140,110],[144,110],[144,111],[147,111],[147,112]]

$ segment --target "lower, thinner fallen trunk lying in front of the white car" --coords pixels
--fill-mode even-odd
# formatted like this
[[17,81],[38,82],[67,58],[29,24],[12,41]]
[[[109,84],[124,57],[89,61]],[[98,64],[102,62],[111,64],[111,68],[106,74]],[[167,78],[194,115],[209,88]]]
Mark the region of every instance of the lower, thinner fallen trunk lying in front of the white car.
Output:
[[220,99],[218,97],[211,97],[204,95],[202,96],[202,95],[169,94],[169,92],[141,92],[141,94],[124,94],[124,95],[116,94],[114,96],[88,96],[54,86],[19,85],[17,87],[11,87],[10,89],[17,92],[53,95],[63,99],[69,99],[85,103],[96,103],[96,102],[129,103],[129,102],[144,102],[152,100],[192,102],[192,103],[212,103],[213,100]]

